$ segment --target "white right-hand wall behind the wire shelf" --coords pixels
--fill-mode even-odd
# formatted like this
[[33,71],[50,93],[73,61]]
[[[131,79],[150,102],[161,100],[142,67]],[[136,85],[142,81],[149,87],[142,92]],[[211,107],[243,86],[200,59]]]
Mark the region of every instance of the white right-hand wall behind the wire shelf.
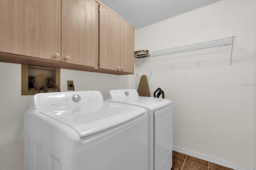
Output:
[[135,51],[237,36],[232,66],[231,46],[146,57],[136,65],[141,75],[153,72],[151,95],[160,87],[173,102],[174,146],[254,169],[255,3],[222,0],[135,31]]

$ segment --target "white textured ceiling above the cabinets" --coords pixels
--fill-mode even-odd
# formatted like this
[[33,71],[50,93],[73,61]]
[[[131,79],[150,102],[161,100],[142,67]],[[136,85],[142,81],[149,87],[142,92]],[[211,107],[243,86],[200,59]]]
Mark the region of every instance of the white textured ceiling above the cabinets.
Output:
[[100,0],[136,29],[218,2],[219,0]]

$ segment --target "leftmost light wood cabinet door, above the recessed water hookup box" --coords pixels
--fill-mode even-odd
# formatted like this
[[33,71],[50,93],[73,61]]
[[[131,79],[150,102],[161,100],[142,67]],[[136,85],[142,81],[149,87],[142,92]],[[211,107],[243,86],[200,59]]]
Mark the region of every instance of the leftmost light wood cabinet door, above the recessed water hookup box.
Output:
[[60,61],[60,15],[60,0],[0,0],[0,51]]

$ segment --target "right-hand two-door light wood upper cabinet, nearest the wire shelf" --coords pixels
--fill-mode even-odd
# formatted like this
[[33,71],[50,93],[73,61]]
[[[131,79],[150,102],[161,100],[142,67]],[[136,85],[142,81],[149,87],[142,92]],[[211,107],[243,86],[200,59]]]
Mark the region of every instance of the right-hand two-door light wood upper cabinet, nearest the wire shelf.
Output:
[[134,73],[134,28],[102,5],[99,18],[99,67]]

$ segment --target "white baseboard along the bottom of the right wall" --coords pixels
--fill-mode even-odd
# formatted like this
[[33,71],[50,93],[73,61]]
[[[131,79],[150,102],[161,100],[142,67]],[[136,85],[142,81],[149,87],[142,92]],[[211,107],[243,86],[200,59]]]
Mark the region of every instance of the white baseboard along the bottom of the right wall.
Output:
[[200,153],[193,152],[191,150],[187,150],[187,149],[180,148],[180,147],[177,147],[177,146],[173,146],[173,150],[176,151],[176,152],[180,152],[182,154],[193,156],[195,158],[202,159],[202,160],[205,160],[205,161],[208,161],[208,162],[212,162],[214,164],[225,166],[227,168],[231,168],[231,169],[234,169],[234,170],[254,170],[252,168],[248,168],[248,167],[245,167],[245,166],[234,164],[234,163],[228,162],[226,160],[213,158],[212,156],[200,154]]

